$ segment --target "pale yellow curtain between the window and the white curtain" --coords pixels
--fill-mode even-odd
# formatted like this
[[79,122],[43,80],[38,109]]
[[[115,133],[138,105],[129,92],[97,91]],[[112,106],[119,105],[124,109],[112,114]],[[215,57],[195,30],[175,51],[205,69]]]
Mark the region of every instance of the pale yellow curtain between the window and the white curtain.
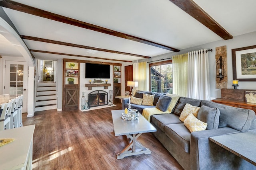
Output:
[[173,94],[188,95],[188,53],[172,57]]

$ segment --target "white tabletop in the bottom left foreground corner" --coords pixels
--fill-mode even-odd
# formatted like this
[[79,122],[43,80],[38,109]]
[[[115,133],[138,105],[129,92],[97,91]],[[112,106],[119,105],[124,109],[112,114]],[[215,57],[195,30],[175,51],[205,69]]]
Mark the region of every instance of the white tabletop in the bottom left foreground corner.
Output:
[[32,170],[34,129],[35,125],[29,125],[0,131],[0,139],[15,139],[15,141],[0,147],[0,169]]

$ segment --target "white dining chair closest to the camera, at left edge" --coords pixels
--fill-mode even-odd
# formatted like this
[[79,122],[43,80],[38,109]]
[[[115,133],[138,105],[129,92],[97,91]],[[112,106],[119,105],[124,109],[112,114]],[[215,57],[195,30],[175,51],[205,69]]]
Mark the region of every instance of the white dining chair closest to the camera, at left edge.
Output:
[[2,113],[0,116],[0,131],[10,129],[11,107],[12,101],[1,105]]

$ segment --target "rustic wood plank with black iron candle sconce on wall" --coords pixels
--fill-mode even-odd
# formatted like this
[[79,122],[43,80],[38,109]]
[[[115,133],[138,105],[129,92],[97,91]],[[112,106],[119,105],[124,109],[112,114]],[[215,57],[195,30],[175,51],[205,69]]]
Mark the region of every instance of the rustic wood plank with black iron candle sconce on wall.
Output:
[[[216,60],[216,88],[228,88],[228,74],[227,74],[227,48],[226,45],[215,48],[215,60]],[[220,64],[221,63],[221,64]],[[220,67],[221,65],[221,67]],[[221,71],[220,71],[221,69]],[[219,76],[221,73],[221,76]]]

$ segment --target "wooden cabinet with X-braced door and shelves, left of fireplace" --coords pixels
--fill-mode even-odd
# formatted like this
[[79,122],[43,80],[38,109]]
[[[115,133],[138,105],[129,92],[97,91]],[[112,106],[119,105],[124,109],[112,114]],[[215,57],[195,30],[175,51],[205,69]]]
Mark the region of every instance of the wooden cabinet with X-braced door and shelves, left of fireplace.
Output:
[[62,95],[62,110],[79,108],[79,62],[76,60],[63,59]]

